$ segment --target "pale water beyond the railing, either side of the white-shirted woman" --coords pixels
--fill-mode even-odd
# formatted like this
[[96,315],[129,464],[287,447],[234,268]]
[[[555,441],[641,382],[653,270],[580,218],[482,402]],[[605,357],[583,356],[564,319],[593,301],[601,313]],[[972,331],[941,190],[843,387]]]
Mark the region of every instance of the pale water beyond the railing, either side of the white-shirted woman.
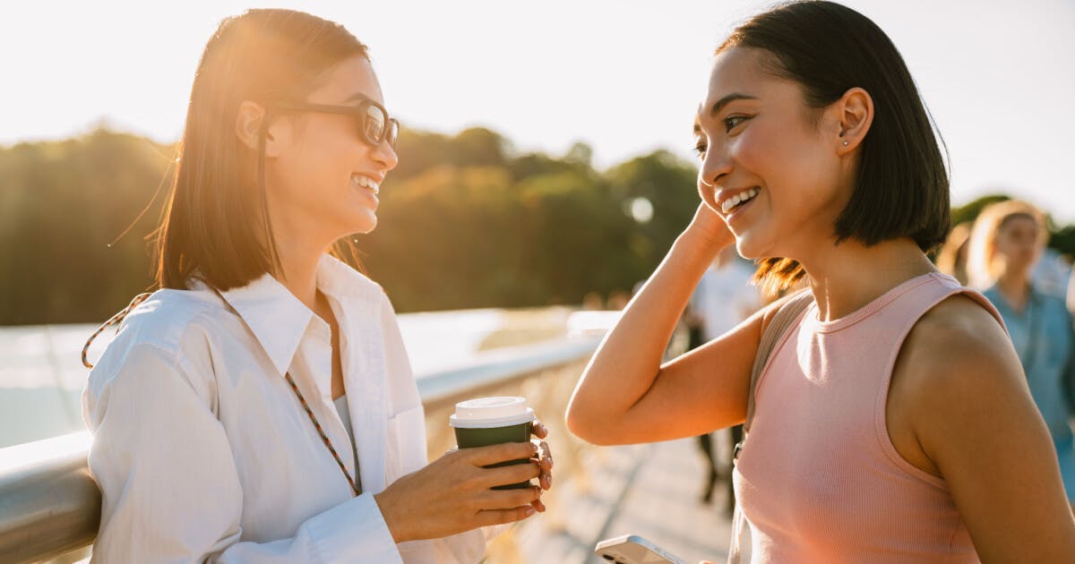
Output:
[[[400,331],[416,377],[473,362],[497,335],[518,334],[527,326],[531,341],[565,331],[569,312],[528,313],[469,309],[403,314]],[[538,327],[536,333],[533,329]],[[89,370],[80,355],[95,324],[0,328],[0,448],[85,429],[82,389]],[[90,362],[100,357],[115,332],[94,342]],[[518,339],[516,339],[518,341]],[[505,343],[517,344],[517,343]]]

